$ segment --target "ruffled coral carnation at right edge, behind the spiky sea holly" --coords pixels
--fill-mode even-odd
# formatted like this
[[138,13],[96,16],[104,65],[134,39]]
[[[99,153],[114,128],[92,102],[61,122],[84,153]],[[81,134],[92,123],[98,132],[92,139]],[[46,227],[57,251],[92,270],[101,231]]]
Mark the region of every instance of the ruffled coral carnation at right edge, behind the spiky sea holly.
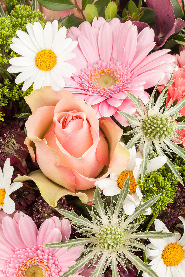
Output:
[[[185,50],[183,50],[183,52],[185,54]],[[185,66],[182,66],[182,68],[179,68],[179,70],[174,73],[173,79],[174,79],[174,82],[171,84],[171,86],[169,86],[169,89],[168,89],[166,106],[169,104],[169,102],[170,104],[172,104],[177,99],[179,102],[185,97]],[[158,87],[159,92],[161,92],[163,88],[164,86],[159,86]],[[180,109],[179,112],[182,114],[182,116],[185,116],[185,107]],[[180,142],[177,140],[174,142],[180,143],[180,144],[182,143],[182,145],[185,148],[185,130],[181,129],[178,132],[182,137],[177,137],[180,140]]]

